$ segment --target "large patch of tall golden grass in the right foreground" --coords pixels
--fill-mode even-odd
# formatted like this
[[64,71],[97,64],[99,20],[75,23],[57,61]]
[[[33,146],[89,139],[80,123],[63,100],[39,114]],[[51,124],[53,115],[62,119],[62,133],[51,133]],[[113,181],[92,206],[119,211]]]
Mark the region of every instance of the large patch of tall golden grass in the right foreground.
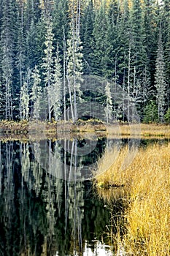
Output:
[[112,167],[96,176],[98,184],[124,185],[126,232],[121,241],[118,236],[117,242],[123,246],[126,255],[168,256],[170,143],[162,146],[155,144],[145,150],[139,149],[131,165],[122,170],[127,151],[128,148],[123,148]]

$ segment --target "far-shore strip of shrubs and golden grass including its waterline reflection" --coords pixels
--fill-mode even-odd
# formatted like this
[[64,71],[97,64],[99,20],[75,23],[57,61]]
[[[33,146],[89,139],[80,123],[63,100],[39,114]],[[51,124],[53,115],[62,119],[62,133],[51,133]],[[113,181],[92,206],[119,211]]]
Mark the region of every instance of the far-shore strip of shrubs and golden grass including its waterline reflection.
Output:
[[98,120],[82,121],[77,120],[75,123],[72,121],[0,121],[0,137],[19,138],[39,135],[54,137],[65,137],[68,135],[105,135],[108,138],[128,137],[128,136],[161,136],[170,137],[170,124],[128,124],[128,123],[115,123],[104,124]]

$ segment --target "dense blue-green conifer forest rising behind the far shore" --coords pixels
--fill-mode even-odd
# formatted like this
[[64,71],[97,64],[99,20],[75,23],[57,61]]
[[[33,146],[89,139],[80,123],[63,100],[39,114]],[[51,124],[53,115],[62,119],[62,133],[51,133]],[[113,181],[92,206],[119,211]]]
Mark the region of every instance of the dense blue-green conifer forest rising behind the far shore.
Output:
[[142,121],[170,121],[169,0],[0,0],[0,40],[1,120],[39,118],[42,91],[58,120],[85,97],[73,83],[66,98],[72,78],[97,75],[112,81],[100,97],[108,120],[125,121],[110,96],[119,84]]

